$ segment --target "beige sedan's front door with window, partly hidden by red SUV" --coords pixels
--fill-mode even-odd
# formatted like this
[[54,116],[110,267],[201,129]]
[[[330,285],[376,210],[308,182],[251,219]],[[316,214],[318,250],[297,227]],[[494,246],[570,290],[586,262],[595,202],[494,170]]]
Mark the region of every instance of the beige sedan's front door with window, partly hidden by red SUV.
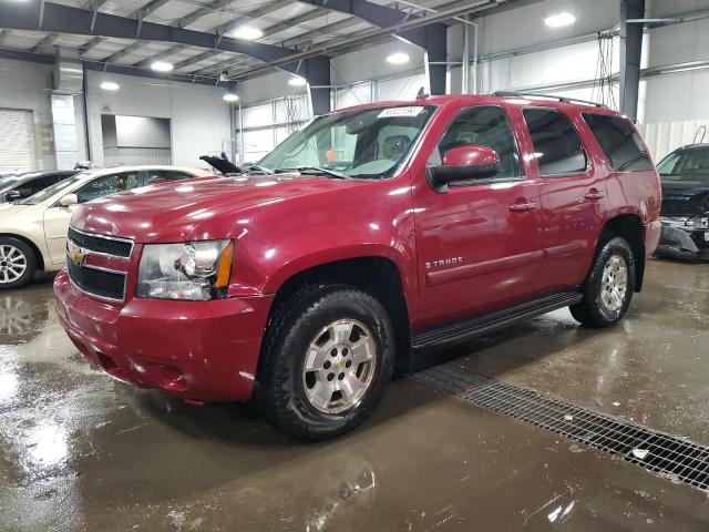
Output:
[[[102,175],[66,194],[76,194],[81,205],[107,194],[135,188],[141,185],[141,178],[140,172]],[[66,263],[66,233],[71,217],[79,205],[63,207],[58,202],[44,211],[44,237],[54,267],[62,267]]]

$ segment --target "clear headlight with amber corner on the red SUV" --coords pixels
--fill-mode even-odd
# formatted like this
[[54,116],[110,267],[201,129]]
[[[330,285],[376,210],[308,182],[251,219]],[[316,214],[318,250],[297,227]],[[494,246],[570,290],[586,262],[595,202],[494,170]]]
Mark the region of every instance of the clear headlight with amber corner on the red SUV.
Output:
[[232,241],[146,244],[136,295],[195,301],[225,297],[233,257]]

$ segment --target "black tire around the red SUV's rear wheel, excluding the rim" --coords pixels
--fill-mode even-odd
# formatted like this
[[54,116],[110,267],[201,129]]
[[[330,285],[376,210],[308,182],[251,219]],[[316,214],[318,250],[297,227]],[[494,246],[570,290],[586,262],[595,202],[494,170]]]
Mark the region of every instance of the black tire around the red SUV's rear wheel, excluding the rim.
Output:
[[[618,307],[613,308],[605,303],[603,297],[605,290],[604,270],[606,265],[618,256],[625,262],[627,279],[625,294],[621,298],[618,298]],[[602,244],[584,283],[584,298],[568,308],[572,311],[572,316],[583,325],[589,327],[608,327],[623,318],[630,306],[634,291],[635,256],[627,241],[617,236]]]

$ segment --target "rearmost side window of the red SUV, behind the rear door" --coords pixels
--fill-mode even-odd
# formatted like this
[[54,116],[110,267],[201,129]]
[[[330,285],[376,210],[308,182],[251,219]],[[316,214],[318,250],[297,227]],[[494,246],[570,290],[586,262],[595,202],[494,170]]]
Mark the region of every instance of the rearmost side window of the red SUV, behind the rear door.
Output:
[[584,113],[584,120],[616,172],[653,170],[640,136],[627,119]]

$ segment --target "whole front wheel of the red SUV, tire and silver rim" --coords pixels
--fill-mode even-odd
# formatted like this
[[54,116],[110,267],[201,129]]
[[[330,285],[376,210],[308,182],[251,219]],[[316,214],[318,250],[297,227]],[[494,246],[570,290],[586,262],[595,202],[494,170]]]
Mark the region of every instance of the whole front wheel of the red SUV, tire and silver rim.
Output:
[[256,401],[277,429],[326,440],[367,419],[391,379],[394,335],[369,294],[308,287],[275,311],[259,365]]

